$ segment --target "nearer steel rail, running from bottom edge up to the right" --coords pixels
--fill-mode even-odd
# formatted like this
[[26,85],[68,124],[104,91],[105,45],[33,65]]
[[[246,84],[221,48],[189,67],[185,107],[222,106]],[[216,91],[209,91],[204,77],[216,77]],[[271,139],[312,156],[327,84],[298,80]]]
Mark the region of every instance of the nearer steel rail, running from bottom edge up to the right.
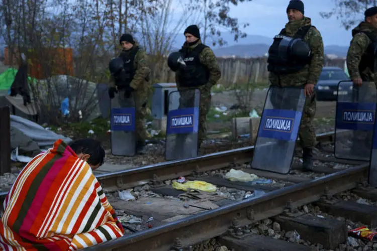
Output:
[[199,243],[225,234],[235,217],[243,225],[251,224],[282,213],[288,202],[298,207],[318,201],[322,195],[355,188],[367,179],[368,167],[369,164],[362,164],[84,249],[166,251],[173,247],[176,238],[183,246]]

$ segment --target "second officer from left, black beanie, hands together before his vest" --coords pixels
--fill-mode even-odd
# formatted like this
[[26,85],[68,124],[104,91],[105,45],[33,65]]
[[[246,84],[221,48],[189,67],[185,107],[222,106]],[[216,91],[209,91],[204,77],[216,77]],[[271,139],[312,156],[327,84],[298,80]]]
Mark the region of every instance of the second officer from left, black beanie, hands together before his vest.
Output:
[[211,107],[211,88],[221,78],[221,71],[212,49],[202,44],[198,26],[191,25],[183,32],[186,42],[179,53],[186,67],[175,72],[175,81],[180,93],[199,89],[200,115],[198,149],[207,135],[206,118]]

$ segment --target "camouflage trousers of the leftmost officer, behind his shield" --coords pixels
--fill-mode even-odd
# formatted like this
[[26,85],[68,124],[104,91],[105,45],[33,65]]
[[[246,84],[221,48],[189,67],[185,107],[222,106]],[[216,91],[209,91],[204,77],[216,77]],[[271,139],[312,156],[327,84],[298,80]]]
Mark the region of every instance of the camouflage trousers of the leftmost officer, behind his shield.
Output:
[[119,90],[119,104],[121,107],[135,107],[135,131],[136,141],[145,142],[148,134],[145,129],[145,117],[147,114],[148,94],[144,91],[132,92],[130,98],[125,98],[124,90]]

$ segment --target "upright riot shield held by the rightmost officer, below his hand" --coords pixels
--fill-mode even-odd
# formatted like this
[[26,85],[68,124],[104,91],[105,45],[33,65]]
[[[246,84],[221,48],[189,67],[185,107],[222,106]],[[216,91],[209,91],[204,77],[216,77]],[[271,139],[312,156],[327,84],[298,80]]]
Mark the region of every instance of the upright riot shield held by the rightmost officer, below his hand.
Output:
[[373,82],[354,86],[340,81],[337,87],[334,156],[369,161],[375,117],[376,89]]

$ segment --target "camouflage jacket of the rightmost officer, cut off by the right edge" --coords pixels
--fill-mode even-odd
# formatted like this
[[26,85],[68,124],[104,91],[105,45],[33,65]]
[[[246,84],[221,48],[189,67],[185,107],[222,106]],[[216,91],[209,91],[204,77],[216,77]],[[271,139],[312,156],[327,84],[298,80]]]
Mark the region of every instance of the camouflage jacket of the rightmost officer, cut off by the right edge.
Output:
[[[372,25],[361,22],[356,28],[352,30],[352,35],[358,31],[368,31],[377,35],[377,29]],[[357,33],[353,36],[347,52],[347,69],[351,79],[361,77],[364,81],[373,81],[373,69],[366,68],[363,72],[359,72],[359,64],[361,56],[366,52],[369,44],[372,41],[364,33]]]

